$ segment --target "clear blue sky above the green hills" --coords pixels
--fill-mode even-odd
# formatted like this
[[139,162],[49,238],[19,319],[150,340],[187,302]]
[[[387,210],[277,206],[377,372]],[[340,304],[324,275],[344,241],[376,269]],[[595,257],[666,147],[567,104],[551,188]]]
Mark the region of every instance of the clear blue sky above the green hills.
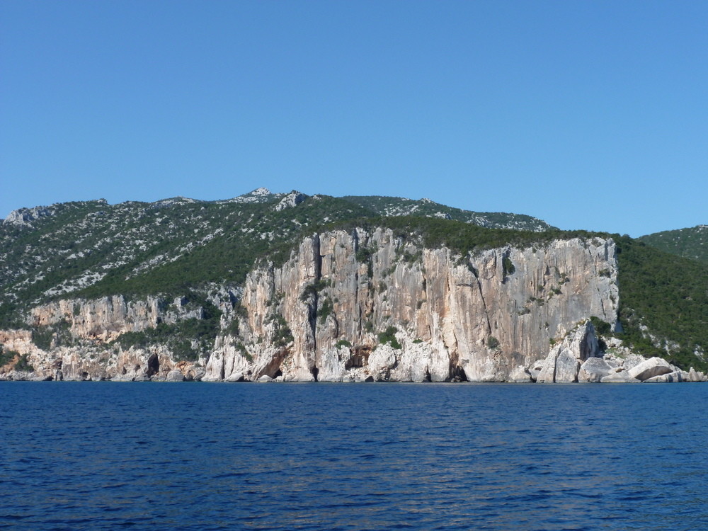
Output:
[[707,1],[0,3],[0,217],[258,186],[708,223]]

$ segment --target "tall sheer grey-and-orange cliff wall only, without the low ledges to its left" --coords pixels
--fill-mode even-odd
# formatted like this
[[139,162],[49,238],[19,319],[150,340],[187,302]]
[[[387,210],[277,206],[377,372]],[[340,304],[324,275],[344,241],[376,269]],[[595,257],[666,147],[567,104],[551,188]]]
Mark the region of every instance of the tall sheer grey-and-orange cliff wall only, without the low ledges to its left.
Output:
[[[615,323],[616,279],[611,240],[457,256],[384,229],[315,234],[249,275],[239,337],[217,343],[205,379],[506,381],[578,321]],[[582,348],[574,359],[595,355]]]

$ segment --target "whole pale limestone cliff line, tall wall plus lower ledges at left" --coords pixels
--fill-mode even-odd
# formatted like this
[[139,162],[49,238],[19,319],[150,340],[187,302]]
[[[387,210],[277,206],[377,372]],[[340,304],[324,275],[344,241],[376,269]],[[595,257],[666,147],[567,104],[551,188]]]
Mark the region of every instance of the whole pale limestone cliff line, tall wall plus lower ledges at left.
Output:
[[115,343],[202,316],[160,297],[35,307],[31,325],[61,325],[76,344],[55,335],[38,348],[21,331],[0,342],[28,355],[43,378],[501,382],[517,379],[519,367],[555,362],[553,343],[590,316],[615,324],[618,297],[611,239],[459,256],[389,229],[334,230],[307,237],[282,265],[263,263],[241,289],[214,299],[221,331],[198,359],[179,361],[166,345]]

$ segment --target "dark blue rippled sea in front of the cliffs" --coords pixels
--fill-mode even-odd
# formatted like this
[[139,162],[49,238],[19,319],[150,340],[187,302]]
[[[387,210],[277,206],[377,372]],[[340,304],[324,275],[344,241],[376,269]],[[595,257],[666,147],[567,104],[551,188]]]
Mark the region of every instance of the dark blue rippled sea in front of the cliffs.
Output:
[[708,529],[708,385],[0,384],[0,527]]

